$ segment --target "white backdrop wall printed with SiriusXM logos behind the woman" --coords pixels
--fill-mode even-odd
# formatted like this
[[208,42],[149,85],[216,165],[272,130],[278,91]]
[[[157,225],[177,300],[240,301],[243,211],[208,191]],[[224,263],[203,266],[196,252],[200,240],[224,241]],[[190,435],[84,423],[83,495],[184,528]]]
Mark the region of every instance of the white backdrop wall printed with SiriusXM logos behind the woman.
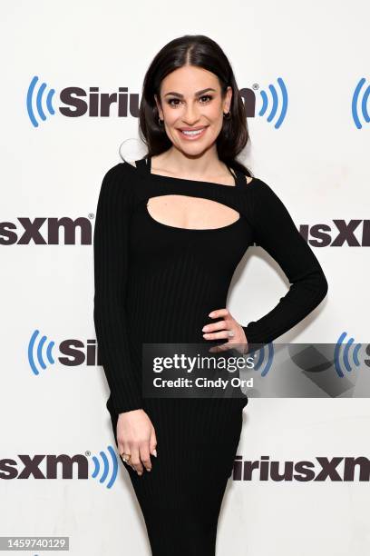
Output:
[[[315,239],[313,226],[324,232],[326,241],[312,246],[329,293],[278,341],[336,343],[346,332],[365,348],[370,125],[361,104],[370,84],[369,15],[365,0],[2,5],[2,536],[69,537],[73,556],[151,553],[131,482],[120,461],[114,467],[108,387],[96,364],[93,327],[93,216],[102,176],[121,162],[123,141],[132,139],[122,150],[129,159],[144,151],[135,113],[119,117],[113,105],[109,116],[93,115],[89,91],[127,87],[134,107],[153,55],[172,38],[209,35],[224,48],[239,88],[256,96],[244,162],[273,187],[297,226],[308,226],[308,241]],[[283,110],[279,79],[287,88],[287,112],[276,126]],[[42,84],[44,119],[37,109]],[[65,111],[63,94],[71,87],[80,89],[85,114]],[[268,121],[272,87],[277,114]],[[58,236],[54,219],[61,218],[70,232],[81,219],[83,233],[61,229]],[[34,224],[39,232],[30,239],[24,229],[35,219],[41,219]],[[334,243],[338,220],[359,221],[352,243]],[[288,286],[277,263],[257,247],[248,249],[234,278],[229,309],[240,323],[267,313]],[[44,368],[35,355],[43,343]],[[366,398],[249,399],[238,455],[251,462],[266,456],[280,470],[288,462],[310,462],[317,475],[316,458],[367,458],[369,425]],[[54,473],[53,458],[62,454],[64,465]],[[26,460],[35,456],[38,472],[27,472]],[[78,463],[68,474],[73,456]],[[343,465],[337,480],[230,479],[219,556],[367,554],[368,478],[360,481],[356,473],[354,481],[343,481]]]

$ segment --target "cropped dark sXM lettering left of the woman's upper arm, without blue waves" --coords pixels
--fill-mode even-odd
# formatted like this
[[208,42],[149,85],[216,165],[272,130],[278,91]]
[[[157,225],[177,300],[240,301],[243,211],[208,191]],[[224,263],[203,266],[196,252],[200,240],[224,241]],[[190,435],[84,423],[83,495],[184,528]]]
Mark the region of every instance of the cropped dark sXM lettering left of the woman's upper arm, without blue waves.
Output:
[[[18,223],[0,222],[0,245],[76,245],[77,229],[79,229],[81,245],[91,245],[92,243],[92,223],[90,220],[93,214],[89,214],[89,218],[80,216],[79,218],[69,218],[63,216],[61,218],[30,218],[19,217],[18,223],[22,229],[18,229]],[[41,231],[41,227],[44,230]],[[60,235],[63,230],[63,241]]]

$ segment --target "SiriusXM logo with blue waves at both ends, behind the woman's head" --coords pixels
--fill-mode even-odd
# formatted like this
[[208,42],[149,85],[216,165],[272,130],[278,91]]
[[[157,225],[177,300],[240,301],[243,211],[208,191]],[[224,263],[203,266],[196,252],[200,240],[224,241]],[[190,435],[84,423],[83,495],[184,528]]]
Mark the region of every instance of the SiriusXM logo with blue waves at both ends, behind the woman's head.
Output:
[[[240,89],[248,117],[256,115],[257,91],[260,104],[258,116],[266,117],[268,124],[278,129],[287,115],[287,86],[284,80],[277,77],[277,86],[269,84],[266,91],[260,90],[258,84],[254,84],[252,89]],[[34,75],[26,94],[27,114],[34,127],[54,116],[57,111],[68,118],[83,115],[107,118],[112,116],[113,110],[118,117],[139,117],[139,94],[128,93],[128,87],[119,87],[118,93],[101,93],[99,87],[89,87],[86,91],[82,87],[71,86],[65,87],[57,100],[55,97],[55,89],[44,82],[40,83],[39,77]],[[59,103],[64,105],[56,106]]]

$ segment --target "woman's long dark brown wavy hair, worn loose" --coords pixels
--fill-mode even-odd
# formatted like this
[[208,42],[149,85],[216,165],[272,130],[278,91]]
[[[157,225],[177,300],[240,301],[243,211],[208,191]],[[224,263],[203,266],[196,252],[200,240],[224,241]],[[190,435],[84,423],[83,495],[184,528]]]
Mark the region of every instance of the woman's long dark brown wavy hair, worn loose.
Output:
[[216,141],[217,152],[219,160],[252,177],[248,168],[236,160],[249,140],[245,105],[227,56],[215,41],[205,35],[183,35],[175,38],[163,46],[151,61],[144,76],[139,108],[139,134],[148,149],[143,158],[161,154],[172,144],[163,125],[158,123],[159,112],[154,94],[161,103],[162,79],[183,65],[195,65],[216,74],[222,98],[225,98],[228,86],[231,87],[231,114],[229,118],[224,118]]

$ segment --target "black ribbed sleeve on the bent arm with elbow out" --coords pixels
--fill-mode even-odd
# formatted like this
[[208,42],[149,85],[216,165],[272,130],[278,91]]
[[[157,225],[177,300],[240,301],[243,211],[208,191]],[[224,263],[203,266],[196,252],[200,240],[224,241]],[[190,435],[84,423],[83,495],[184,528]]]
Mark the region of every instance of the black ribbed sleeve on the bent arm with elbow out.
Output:
[[261,180],[251,193],[255,243],[277,261],[290,283],[269,313],[243,326],[248,343],[269,343],[311,313],[328,286],[316,255],[277,194]]

